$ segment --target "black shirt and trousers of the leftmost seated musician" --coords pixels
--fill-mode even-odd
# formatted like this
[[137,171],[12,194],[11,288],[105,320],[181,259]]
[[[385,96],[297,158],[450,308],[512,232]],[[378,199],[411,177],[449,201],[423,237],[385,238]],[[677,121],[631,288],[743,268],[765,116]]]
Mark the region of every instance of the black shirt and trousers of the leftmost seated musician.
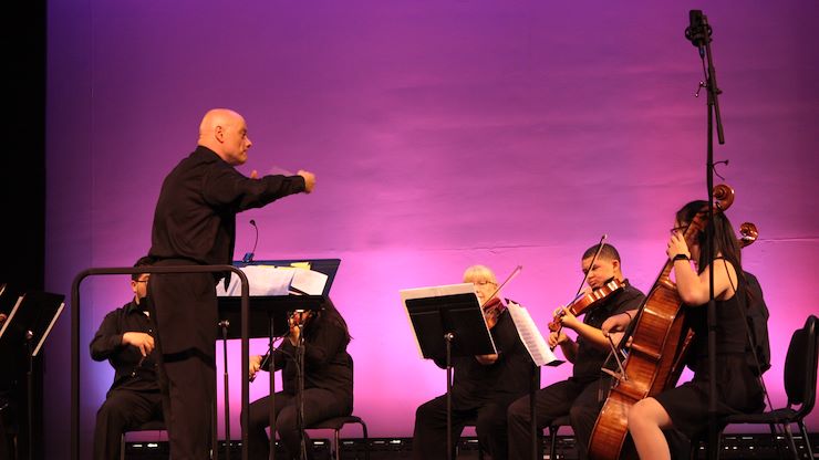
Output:
[[137,347],[122,344],[126,332],[154,336],[153,323],[143,309],[146,303],[132,301],[105,315],[91,341],[91,357],[107,359],[115,370],[114,383],[96,412],[95,460],[118,459],[120,437],[124,431],[163,419],[154,353],[143,359]]

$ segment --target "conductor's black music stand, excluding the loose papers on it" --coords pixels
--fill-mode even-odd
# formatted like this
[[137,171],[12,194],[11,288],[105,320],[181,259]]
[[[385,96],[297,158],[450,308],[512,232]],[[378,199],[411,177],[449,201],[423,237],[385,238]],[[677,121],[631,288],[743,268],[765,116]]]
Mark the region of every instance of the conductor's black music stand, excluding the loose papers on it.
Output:
[[[269,351],[274,349],[273,342],[277,337],[283,337],[289,332],[288,317],[290,313],[302,310],[302,311],[318,311],[324,307],[324,304],[330,302],[328,294],[330,288],[335,279],[335,273],[339,270],[340,259],[299,259],[299,260],[260,260],[251,263],[235,262],[235,266],[248,266],[248,265],[274,265],[274,266],[292,266],[294,263],[307,262],[310,264],[310,269],[328,276],[324,284],[324,290],[321,295],[256,295],[250,296],[250,317],[248,318],[249,337],[261,338],[267,337],[269,341]],[[229,338],[239,338],[241,331],[241,312],[240,312],[240,297],[235,296],[220,296],[218,299],[219,307],[219,323],[218,327],[221,331],[222,343],[224,343],[224,367],[225,367],[225,437],[226,450],[229,452],[230,449],[230,429],[229,427],[229,388],[228,388],[228,363],[227,363],[227,341]],[[299,344],[297,352],[303,351],[303,344]],[[303,378],[303,363],[300,364],[299,375]],[[272,362],[270,363],[272,366]],[[303,385],[300,383],[299,388]],[[276,411],[274,411],[274,399],[276,399],[276,377],[274,370],[270,373],[270,458],[276,458]],[[297,395],[297,404],[301,409],[301,391]],[[298,425],[300,427],[302,452],[305,449],[304,446],[304,427],[303,427],[303,414],[301,410],[297,411]],[[303,454],[303,453],[302,453]],[[229,459],[229,457],[228,457]]]

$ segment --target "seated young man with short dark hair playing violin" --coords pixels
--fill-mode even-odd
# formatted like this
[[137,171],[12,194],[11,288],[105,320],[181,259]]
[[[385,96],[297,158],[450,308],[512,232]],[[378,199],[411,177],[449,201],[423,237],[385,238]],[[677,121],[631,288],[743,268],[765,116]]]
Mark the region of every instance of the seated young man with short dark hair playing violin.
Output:
[[[631,321],[645,296],[623,278],[620,254],[611,244],[602,247],[595,244],[589,248],[581,261],[589,288],[585,296],[579,297],[576,303],[589,299],[588,295],[600,300],[590,303],[584,311],[583,321],[572,314],[572,305],[560,307],[554,312],[554,322],[562,327],[549,334],[549,346],[553,348],[560,345],[566,358],[574,364],[574,369],[569,379],[554,383],[536,393],[535,411],[538,433],[542,433],[543,428],[550,426],[558,417],[570,416],[577,438],[578,458],[585,459],[589,439],[612,379],[601,372],[607,364],[611,346],[609,337],[603,335],[600,326],[612,316]],[[602,297],[595,295],[603,292],[610,294]],[[566,328],[577,333],[577,342],[569,338]],[[614,363],[607,365],[615,369]],[[527,395],[509,406],[510,459],[531,458],[530,429]],[[542,442],[537,445],[540,449]],[[538,452],[538,458],[542,457],[542,452]]]

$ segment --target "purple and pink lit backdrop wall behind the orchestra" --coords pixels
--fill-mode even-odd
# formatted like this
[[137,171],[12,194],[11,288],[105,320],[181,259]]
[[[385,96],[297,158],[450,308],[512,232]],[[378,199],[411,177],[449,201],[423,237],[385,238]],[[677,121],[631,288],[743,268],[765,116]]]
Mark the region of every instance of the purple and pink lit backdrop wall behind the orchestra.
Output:
[[[81,270],[142,255],[162,178],[194,148],[200,116],[236,108],[255,142],[242,171],[318,176],[313,195],[242,215],[237,252],[255,219],[259,259],[342,259],[332,296],[355,337],[355,411],[372,436],[411,436],[415,407],[445,379],[418,358],[400,289],[522,264],[506,295],[543,325],[602,233],[651,286],[673,212],[706,195],[702,67],[683,36],[701,7],[50,1],[46,288],[68,294]],[[730,159],[729,217],[760,229],[745,265],[771,307],[768,388],[784,404],[788,338],[819,294],[819,4],[713,1],[705,13],[724,90],[716,158]],[[86,344],[129,290],[125,278],[83,286]],[[49,458],[68,446],[68,318],[46,349]],[[90,441],[112,372],[82,365]],[[238,410],[231,424],[238,433]]]

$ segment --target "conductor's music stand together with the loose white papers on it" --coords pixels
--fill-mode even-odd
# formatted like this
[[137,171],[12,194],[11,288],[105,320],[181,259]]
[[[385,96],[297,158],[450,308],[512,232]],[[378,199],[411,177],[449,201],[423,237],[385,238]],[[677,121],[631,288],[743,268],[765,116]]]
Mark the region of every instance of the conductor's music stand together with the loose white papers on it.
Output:
[[[330,302],[329,293],[335,273],[339,270],[339,259],[300,259],[300,260],[261,260],[251,263],[236,262],[248,278],[250,286],[250,316],[248,318],[249,337],[267,338],[268,354],[276,349],[276,341],[284,337],[290,332],[289,321],[294,313],[317,312],[324,309]],[[227,288],[219,286],[219,332],[224,346],[224,387],[225,387],[225,427],[226,440],[229,451],[230,424],[229,424],[229,389],[228,389],[228,363],[227,341],[239,338],[240,331],[240,297],[238,285],[231,283]],[[298,351],[303,351],[300,343]],[[301,356],[302,353],[297,353]],[[298,363],[302,368],[303,362]],[[272,365],[270,359],[269,365]],[[262,363],[262,368],[266,363]],[[242,369],[247,372],[248,369]],[[246,381],[246,380],[242,380]],[[252,381],[252,380],[251,380]],[[301,389],[303,381],[300,381]],[[276,457],[276,412],[274,412],[276,378],[270,375],[270,452]],[[301,391],[297,393],[297,401],[301,398]],[[242,410],[247,410],[242,407]],[[298,412],[299,427],[301,428],[302,451],[304,446],[303,415]]]

